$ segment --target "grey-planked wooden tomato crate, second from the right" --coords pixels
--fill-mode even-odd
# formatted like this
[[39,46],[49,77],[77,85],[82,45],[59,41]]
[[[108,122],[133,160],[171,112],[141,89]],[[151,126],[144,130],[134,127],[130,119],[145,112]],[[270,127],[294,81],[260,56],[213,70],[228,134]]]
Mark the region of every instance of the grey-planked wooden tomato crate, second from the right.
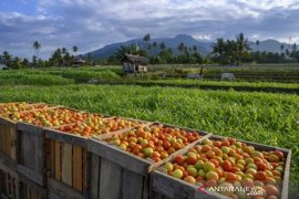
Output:
[[[199,134],[204,137],[209,136],[209,134],[203,132]],[[199,140],[185,148],[193,147]],[[91,153],[90,169],[92,176],[90,198],[148,199],[152,198],[150,172],[171,159],[179,150],[159,163],[154,163],[128,154],[104,140],[90,138],[89,151]]]

